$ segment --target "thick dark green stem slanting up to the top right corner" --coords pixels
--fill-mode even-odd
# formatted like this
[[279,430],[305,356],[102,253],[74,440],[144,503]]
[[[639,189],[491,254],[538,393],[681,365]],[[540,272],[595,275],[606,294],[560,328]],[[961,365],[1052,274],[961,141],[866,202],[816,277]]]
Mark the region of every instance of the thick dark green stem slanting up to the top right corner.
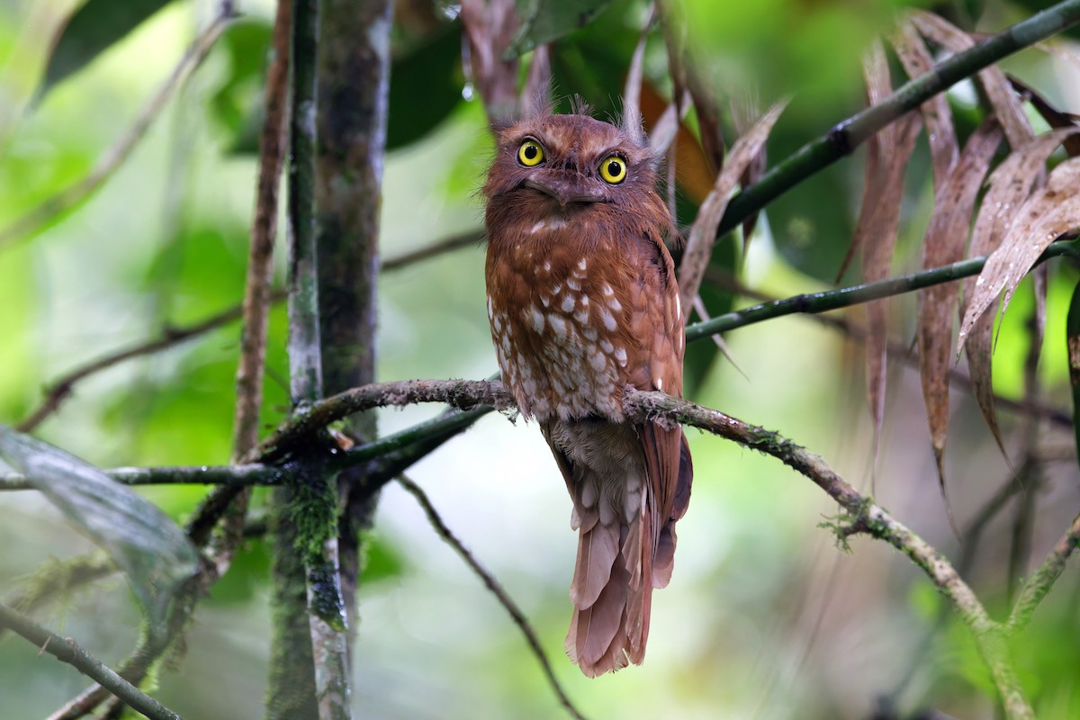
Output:
[[760,180],[731,199],[717,236],[760,212],[773,199],[841,158],[872,135],[914,110],[937,93],[978,70],[1080,22],[1080,0],[1066,0],[1002,30],[940,63],[931,72],[910,80],[888,98],[840,122],[812,142],[769,169]]

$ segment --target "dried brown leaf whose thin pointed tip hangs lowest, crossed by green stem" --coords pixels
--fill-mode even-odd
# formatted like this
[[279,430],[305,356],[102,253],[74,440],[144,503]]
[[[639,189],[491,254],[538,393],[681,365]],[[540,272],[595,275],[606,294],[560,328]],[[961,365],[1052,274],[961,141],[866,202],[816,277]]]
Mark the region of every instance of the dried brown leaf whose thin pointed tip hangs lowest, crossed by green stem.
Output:
[[[963,258],[975,200],[990,167],[990,160],[1001,145],[1001,126],[997,121],[983,123],[968,139],[956,167],[935,193],[933,214],[922,243],[924,269],[949,264]],[[927,422],[930,425],[934,458],[937,460],[942,497],[954,530],[956,524],[945,493],[943,458],[948,432],[949,351],[953,347],[953,318],[957,301],[957,288],[951,283],[921,290],[918,296],[917,330]]]

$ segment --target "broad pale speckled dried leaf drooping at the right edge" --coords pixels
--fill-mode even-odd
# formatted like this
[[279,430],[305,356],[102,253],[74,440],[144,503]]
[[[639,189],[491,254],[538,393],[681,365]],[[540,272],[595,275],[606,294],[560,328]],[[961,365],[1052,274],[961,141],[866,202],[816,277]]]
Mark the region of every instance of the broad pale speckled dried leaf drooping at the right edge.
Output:
[[[975,220],[971,243],[972,256],[989,253],[989,257],[983,271],[970,286],[973,289],[966,288],[964,291],[966,309],[957,338],[958,355],[966,342],[974,341],[975,323],[989,309],[1001,290],[1007,288],[1003,304],[1008,304],[1021,279],[1031,269],[1042,250],[1053,242],[1054,237],[1047,239],[1045,234],[1052,231],[1054,223],[1064,222],[1068,208],[1080,202],[1077,200],[1076,187],[1067,186],[1065,193],[1053,190],[1055,194],[1050,200],[1045,196],[1045,193],[1051,191],[1050,186],[1029,198],[1032,188],[1042,176],[1047,159],[1063,139],[1077,132],[1080,130],[1063,128],[1038,136],[1005,158],[990,176],[990,190]],[[1075,159],[1070,160],[1054,171],[1051,177],[1057,176],[1054,180],[1055,186],[1061,184],[1064,173],[1069,172],[1070,164],[1075,167],[1076,162]],[[1063,195],[1067,196],[1069,191],[1072,194],[1071,202],[1064,202]],[[1058,203],[1059,206],[1055,207]],[[1030,230],[1025,231],[1032,228],[1035,221],[1040,219],[1030,217],[1032,210],[1047,213],[1045,218],[1041,218],[1044,222],[1039,228],[1039,232],[1042,233],[1039,236],[1030,235]],[[967,300],[969,297],[970,300]],[[1003,307],[1002,312],[1004,312]],[[988,354],[988,335],[986,338]],[[982,353],[983,350],[976,348],[976,352]]]

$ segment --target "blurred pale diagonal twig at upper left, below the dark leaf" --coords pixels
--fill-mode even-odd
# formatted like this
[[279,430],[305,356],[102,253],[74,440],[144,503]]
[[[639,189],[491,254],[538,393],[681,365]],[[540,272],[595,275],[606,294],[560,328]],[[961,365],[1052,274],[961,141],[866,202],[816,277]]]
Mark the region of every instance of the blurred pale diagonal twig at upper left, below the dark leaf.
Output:
[[195,38],[191,47],[184,54],[184,57],[180,58],[179,64],[177,64],[172,74],[168,76],[153,97],[150,98],[150,101],[146,104],[132,126],[102,155],[89,175],[49,198],[29,213],[0,230],[0,249],[22,237],[39,232],[58,215],[71,209],[93,194],[95,190],[112,176],[117,168],[127,160],[139,140],[146,135],[146,131],[153,123],[154,119],[161,114],[162,109],[168,103],[173,93],[176,92],[176,89],[206,59],[211,49],[217,42],[217,39],[231,17],[231,13],[219,14]]

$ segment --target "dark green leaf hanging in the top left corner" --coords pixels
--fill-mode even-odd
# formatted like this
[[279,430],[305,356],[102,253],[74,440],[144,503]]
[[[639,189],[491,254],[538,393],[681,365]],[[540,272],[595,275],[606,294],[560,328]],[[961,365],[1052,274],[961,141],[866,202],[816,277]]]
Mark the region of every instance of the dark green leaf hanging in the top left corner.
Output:
[[53,43],[37,99],[90,65],[172,0],[86,0],[68,17]]

